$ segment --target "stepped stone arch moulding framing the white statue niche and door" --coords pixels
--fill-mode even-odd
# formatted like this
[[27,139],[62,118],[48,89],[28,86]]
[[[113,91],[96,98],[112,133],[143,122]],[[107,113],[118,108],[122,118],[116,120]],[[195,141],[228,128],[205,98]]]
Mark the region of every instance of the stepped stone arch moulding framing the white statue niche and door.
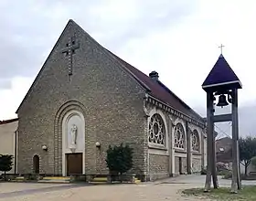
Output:
[[[55,175],[63,175],[63,170],[65,163],[63,161],[63,121],[64,118],[68,118],[73,116],[73,114],[80,116],[80,118],[83,121],[83,126],[82,126],[82,132],[84,133],[84,138],[85,138],[85,119],[84,119],[84,105],[80,103],[80,101],[77,100],[69,100],[65,102],[57,111],[56,116],[55,116],[55,122],[54,122],[54,174]],[[83,139],[83,142],[85,143],[85,139]],[[84,150],[85,150],[85,145],[84,145]],[[83,151],[85,152],[85,151]],[[85,153],[83,153],[83,158],[85,157]],[[83,159],[83,164],[84,164]],[[84,172],[84,167],[83,167],[83,172]]]

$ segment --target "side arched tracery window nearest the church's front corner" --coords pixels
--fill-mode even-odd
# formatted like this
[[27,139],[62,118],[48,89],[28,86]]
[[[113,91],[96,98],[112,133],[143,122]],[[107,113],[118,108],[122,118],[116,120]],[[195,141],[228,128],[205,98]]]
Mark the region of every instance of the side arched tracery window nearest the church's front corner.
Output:
[[162,117],[155,113],[149,122],[148,142],[165,145],[165,123]]

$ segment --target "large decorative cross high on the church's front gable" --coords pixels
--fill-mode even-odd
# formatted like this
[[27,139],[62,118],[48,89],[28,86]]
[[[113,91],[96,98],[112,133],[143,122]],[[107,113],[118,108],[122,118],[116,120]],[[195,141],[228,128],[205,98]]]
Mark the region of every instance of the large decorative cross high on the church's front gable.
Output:
[[80,44],[76,42],[75,37],[70,37],[69,43],[66,44],[66,48],[62,49],[62,53],[69,58],[69,76],[73,74],[73,54],[75,54],[77,48],[80,48]]

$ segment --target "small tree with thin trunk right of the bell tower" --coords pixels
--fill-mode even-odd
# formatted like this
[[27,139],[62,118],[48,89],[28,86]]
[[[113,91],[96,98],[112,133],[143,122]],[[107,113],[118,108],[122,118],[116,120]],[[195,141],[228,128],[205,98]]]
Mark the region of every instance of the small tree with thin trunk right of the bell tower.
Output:
[[248,166],[251,164],[251,158],[256,155],[256,138],[248,136],[240,138],[240,164],[244,165],[244,172],[247,175]]

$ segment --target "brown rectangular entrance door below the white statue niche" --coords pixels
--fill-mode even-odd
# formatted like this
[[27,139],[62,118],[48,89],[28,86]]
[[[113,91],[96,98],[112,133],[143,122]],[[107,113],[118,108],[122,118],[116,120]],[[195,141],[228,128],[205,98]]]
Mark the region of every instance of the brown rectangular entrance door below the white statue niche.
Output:
[[67,175],[82,174],[82,153],[67,153]]

